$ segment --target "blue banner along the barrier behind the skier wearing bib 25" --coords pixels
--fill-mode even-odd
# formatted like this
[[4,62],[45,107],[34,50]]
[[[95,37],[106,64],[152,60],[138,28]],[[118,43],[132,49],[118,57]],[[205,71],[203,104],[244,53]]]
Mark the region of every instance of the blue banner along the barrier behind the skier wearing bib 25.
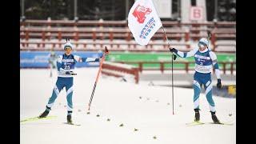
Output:
[[[63,51],[54,51],[56,55],[64,54]],[[100,58],[102,53],[97,52],[72,52],[82,58]],[[49,66],[50,51],[21,51],[20,67],[21,68],[46,68]],[[76,67],[99,66],[99,62],[78,62]]]

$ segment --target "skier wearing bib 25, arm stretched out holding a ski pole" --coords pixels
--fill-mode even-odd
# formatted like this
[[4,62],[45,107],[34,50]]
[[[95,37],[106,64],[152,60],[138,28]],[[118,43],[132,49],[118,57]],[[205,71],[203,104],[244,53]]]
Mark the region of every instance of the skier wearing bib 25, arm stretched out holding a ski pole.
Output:
[[[51,107],[54,105],[55,99],[61,90],[66,87],[66,101],[67,101],[67,122],[71,122],[71,114],[73,109],[72,95],[73,95],[73,77],[74,66],[77,62],[99,62],[100,58],[81,58],[78,55],[71,54],[72,44],[67,41],[64,45],[65,54],[58,55],[57,68],[58,68],[58,79],[51,97],[46,105],[46,110],[40,114],[39,118],[45,118]],[[101,57],[102,58],[102,57]]]

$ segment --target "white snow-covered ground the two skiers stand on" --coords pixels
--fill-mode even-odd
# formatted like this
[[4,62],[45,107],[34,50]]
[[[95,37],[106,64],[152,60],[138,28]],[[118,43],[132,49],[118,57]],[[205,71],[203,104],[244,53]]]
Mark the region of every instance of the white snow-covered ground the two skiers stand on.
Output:
[[[38,116],[56,82],[50,70],[20,70],[20,119]],[[194,120],[193,90],[174,88],[174,115],[170,87],[148,86],[100,77],[87,114],[98,68],[77,69],[74,78],[73,121],[66,122],[66,91],[56,99],[50,115],[57,118],[20,124],[22,144],[233,144],[236,143],[236,99],[214,96],[217,116],[233,126],[186,126]],[[175,84],[175,81],[174,81]],[[212,122],[204,94],[200,96],[202,122]],[[232,114],[232,115],[231,115]],[[98,117],[96,115],[99,115]],[[110,121],[107,121],[107,119]],[[120,126],[123,124],[123,126]],[[136,131],[134,129],[137,129]]]

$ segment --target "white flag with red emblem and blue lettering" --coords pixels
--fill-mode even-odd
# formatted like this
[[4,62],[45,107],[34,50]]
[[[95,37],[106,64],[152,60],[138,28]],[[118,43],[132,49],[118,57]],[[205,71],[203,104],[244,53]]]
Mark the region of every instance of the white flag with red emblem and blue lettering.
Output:
[[128,14],[128,27],[139,45],[147,45],[162,26],[151,0],[136,0]]

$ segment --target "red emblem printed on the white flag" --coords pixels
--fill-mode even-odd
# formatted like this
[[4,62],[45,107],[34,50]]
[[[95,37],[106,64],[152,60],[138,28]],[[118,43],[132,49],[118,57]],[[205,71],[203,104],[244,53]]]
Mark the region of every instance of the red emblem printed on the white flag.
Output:
[[151,12],[152,10],[150,8],[138,5],[134,10],[133,15],[137,18],[138,23],[144,23],[146,19],[145,15],[150,14]]

